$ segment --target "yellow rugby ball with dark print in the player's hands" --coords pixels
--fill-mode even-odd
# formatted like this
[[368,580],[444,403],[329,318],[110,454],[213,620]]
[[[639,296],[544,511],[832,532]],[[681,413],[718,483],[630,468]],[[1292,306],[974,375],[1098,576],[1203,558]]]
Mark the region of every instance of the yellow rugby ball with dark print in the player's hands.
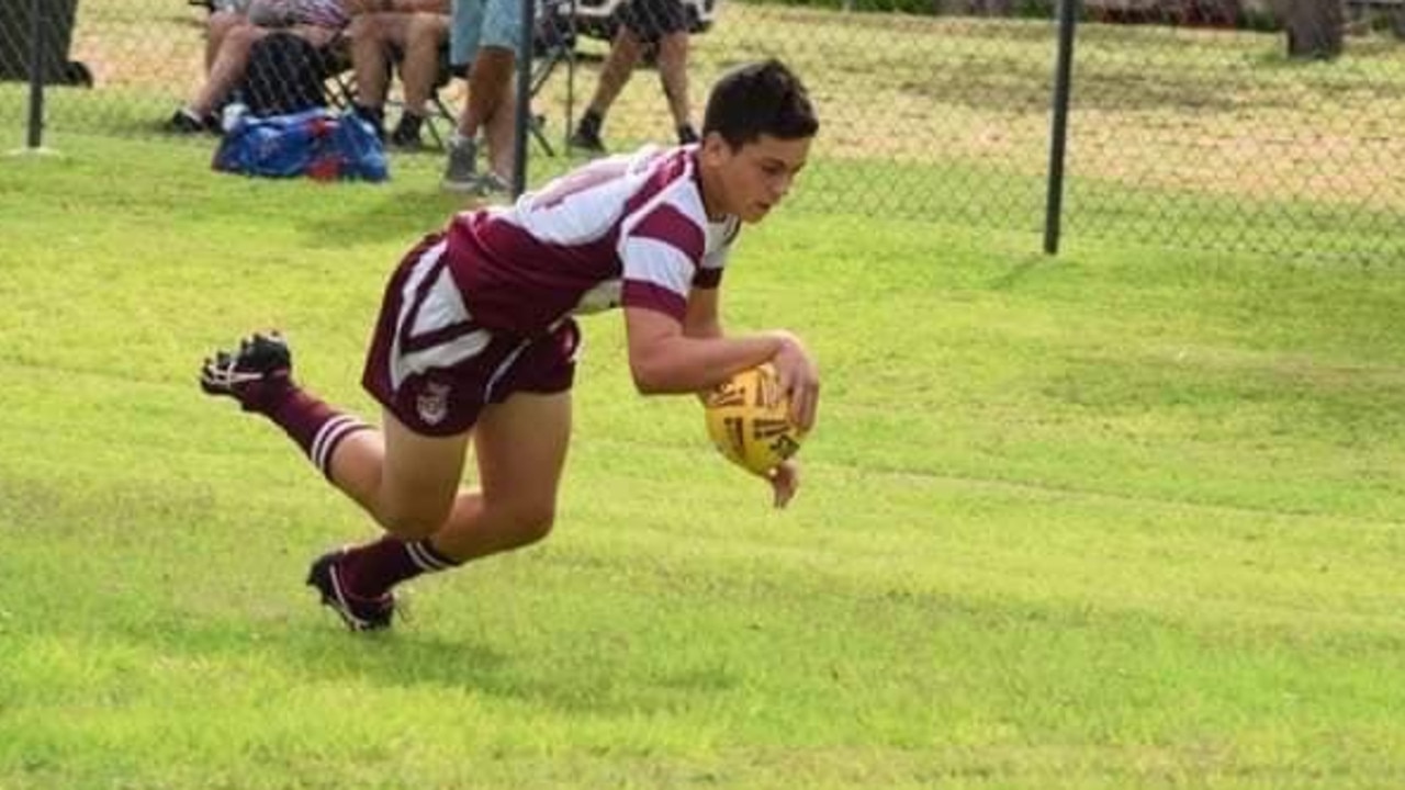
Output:
[[767,475],[794,455],[805,439],[790,419],[790,398],[780,391],[770,364],[743,370],[710,391],[704,413],[718,451],[757,475]]

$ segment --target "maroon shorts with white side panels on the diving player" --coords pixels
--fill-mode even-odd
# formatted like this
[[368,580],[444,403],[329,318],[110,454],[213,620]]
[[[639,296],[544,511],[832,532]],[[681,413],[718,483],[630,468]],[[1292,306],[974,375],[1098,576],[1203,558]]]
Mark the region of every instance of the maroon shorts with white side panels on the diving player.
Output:
[[443,239],[430,236],[391,276],[361,374],[365,391],[410,430],[451,436],[513,392],[570,389],[576,322],[566,318],[534,336],[476,323],[443,253]]

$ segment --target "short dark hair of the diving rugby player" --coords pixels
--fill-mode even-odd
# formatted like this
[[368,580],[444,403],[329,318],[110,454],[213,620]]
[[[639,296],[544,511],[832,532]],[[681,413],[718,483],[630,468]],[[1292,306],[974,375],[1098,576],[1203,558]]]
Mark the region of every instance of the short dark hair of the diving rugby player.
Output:
[[819,118],[809,93],[784,63],[770,58],[738,66],[712,86],[702,115],[702,134],[717,132],[740,148],[762,135],[784,141],[815,136]]

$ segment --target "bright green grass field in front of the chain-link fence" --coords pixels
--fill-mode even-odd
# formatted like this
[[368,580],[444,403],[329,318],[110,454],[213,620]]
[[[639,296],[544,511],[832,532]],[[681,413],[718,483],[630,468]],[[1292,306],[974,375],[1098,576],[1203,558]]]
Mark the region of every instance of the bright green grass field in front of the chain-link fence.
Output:
[[195,368],[277,325],[374,415],[455,204],[52,145],[0,157],[4,790],[1405,786],[1398,267],[783,209],[725,318],[821,357],[792,507],[592,318],[556,534],[362,638],[302,575],[375,530]]

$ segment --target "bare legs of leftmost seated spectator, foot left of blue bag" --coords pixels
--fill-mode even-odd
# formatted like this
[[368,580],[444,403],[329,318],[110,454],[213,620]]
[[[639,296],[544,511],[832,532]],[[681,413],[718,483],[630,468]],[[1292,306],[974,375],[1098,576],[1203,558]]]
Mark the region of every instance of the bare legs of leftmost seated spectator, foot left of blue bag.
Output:
[[[219,132],[218,111],[243,80],[254,44],[285,31],[318,49],[332,46],[351,17],[388,7],[393,0],[250,0],[243,11],[211,14],[205,83],[166,122],[177,134]],[[400,0],[405,1],[405,0]]]

